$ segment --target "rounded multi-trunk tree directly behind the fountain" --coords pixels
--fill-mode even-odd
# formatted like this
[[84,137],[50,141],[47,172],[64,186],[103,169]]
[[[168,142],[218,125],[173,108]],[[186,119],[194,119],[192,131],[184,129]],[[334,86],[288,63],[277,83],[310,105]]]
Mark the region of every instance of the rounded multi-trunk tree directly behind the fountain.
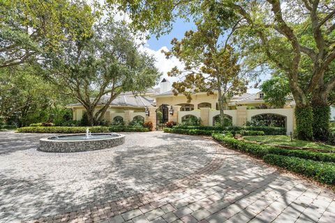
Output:
[[[159,76],[154,59],[137,51],[133,36],[121,23],[100,22],[91,36],[69,37],[61,47],[62,52],[51,55],[45,66],[52,68],[52,83],[85,107],[89,125],[103,121],[121,92],[146,91]],[[103,106],[95,112],[98,105]]]

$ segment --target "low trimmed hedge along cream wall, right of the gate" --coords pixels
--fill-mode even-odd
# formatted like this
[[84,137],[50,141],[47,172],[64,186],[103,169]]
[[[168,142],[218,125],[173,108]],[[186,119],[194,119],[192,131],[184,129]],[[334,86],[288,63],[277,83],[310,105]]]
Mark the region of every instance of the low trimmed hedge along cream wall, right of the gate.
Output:
[[[177,134],[204,134],[211,135],[213,133],[221,133],[225,135],[232,136],[232,132],[228,130],[197,130],[197,129],[180,129],[180,128],[164,128],[164,132],[177,133]],[[251,130],[241,130],[239,132],[234,132],[235,134],[242,134],[245,136],[250,135],[264,135],[263,131],[251,131]]]

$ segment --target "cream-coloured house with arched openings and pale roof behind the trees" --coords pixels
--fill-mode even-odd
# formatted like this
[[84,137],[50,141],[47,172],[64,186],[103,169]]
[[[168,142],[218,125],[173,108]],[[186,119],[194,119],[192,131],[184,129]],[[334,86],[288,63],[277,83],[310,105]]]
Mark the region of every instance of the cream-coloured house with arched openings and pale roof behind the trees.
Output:
[[[104,104],[108,95],[101,100]],[[73,109],[73,118],[80,120],[85,112],[80,104],[68,105]],[[295,103],[287,100],[281,109],[275,109],[267,105],[264,100],[264,93],[244,93],[234,95],[225,106],[225,115],[230,118],[232,125],[246,125],[257,116],[271,115],[279,116],[283,121],[287,133],[293,132],[295,126],[294,118]],[[200,118],[202,125],[214,125],[218,119],[218,93],[211,95],[207,93],[195,93],[191,102],[187,102],[186,96],[172,93],[172,84],[168,79],[163,79],[159,88],[149,89],[146,93],[134,95],[131,92],[122,93],[115,100],[105,113],[105,121],[113,123],[116,120],[123,120],[126,123],[135,117],[142,117],[145,121],[154,123],[157,129],[167,121],[181,123],[186,118],[194,116]]]

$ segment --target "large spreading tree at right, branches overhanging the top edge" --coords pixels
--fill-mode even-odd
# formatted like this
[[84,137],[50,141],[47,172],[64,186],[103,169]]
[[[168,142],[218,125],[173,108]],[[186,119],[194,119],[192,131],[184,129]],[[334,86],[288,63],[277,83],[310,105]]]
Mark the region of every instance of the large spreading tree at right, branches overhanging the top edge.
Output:
[[[335,86],[335,77],[325,78],[325,71],[335,59],[334,1],[109,0],[109,2],[118,3],[121,10],[127,11],[135,28],[148,29],[158,34],[169,31],[176,17],[200,17],[202,13],[211,10],[213,3],[219,7],[227,6],[234,9],[243,20],[239,35],[243,40],[241,47],[248,48],[249,52],[255,55],[264,55],[270,67],[278,68],[285,73],[297,105],[297,136],[300,139],[313,139],[313,118],[308,120],[299,114],[308,113],[308,116],[313,117],[311,105],[327,107],[328,95]],[[221,14],[217,15],[220,17]],[[300,24],[299,28],[302,29],[297,29],[297,24]],[[306,33],[311,36],[308,41],[305,41]],[[308,56],[312,63],[311,79],[308,81],[306,91],[299,84],[302,55]],[[327,109],[314,109],[314,111],[321,112],[314,116],[329,116]],[[323,130],[317,132],[327,134],[327,121],[322,123]]]

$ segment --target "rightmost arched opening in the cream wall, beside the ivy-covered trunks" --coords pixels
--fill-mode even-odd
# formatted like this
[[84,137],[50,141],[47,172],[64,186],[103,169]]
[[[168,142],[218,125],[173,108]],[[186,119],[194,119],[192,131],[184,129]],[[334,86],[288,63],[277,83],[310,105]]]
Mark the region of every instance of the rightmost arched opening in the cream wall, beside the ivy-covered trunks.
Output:
[[247,124],[253,126],[274,126],[285,128],[286,116],[280,114],[258,114],[252,116],[251,121]]

